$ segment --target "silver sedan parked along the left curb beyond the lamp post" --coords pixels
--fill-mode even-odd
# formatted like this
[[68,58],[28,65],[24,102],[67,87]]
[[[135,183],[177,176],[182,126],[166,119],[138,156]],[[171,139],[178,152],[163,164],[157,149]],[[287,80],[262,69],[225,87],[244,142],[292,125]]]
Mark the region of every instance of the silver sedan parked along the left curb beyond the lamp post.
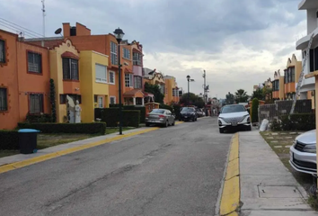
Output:
[[146,126],[149,127],[150,124],[159,124],[164,127],[168,127],[169,125],[174,126],[175,117],[170,110],[166,109],[154,109],[148,114],[146,114]]

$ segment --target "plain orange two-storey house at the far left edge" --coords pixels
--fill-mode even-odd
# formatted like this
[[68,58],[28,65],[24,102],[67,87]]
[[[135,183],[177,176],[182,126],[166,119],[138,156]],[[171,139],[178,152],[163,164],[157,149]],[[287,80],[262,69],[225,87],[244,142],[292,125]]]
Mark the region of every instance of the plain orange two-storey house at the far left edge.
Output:
[[47,48],[0,30],[0,129],[50,112],[48,55]]

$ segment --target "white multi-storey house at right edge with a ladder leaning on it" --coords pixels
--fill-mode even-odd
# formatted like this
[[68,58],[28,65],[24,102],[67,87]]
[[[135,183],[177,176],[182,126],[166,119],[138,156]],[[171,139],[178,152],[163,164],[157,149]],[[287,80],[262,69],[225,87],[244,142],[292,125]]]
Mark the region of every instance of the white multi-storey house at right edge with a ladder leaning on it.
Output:
[[[314,34],[314,40],[309,52],[309,58],[306,61],[304,67],[305,75],[311,72],[318,71],[318,2],[315,0],[302,0],[298,4],[298,10],[305,10],[307,16],[307,35],[296,41],[296,49],[302,50],[303,64],[306,56],[306,49],[308,47],[309,40]],[[300,99],[311,99],[314,91],[314,77],[303,79],[300,87]]]

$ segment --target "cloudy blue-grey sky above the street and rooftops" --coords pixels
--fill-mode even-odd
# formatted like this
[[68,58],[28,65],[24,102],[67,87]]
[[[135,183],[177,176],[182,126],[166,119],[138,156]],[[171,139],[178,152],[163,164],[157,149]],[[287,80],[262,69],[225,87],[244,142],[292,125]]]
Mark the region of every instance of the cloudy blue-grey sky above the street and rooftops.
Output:
[[[210,96],[225,98],[273,77],[286,67],[296,40],[305,36],[300,0],[45,0],[46,36],[62,23],[83,23],[93,34],[120,27],[125,39],[140,41],[145,67],[177,78],[190,92],[203,92],[207,71]],[[7,21],[11,22],[8,25]],[[0,28],[18,24],[29,35],[42,32],[41,0],[0,0]],[[31,35],[32,33],[32,35]]]

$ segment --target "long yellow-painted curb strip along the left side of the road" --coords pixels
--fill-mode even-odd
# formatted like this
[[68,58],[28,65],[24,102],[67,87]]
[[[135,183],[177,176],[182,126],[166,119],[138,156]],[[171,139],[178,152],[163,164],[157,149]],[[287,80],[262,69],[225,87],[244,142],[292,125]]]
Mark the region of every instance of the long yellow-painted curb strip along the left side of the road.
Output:
[[[176,124],[181,124],[183,122],[175,122],[175,123]],[[160,128],[159,127],[154,127],[154,128],[149,128],[149,129],[146,129],[146,130],[139,130],[139,131],[136,131],[136,132],[131,132],[131,133],[128,133],[128,134],[117,136],[117,137],[114,137],[114,138],[102,139],[100,141],[87,143],[87,144],[84,144],[82,146],[77,146],[77,147],[73,147],[73,148],[66,148],[64,150],[60,150],[60,151],[57,151],[57,152],[52,152],[52,153],[49,153],[49,154],[46,154],[46,155],[42,155],[42,156],[39,156],[39,157],[32,157],[30,159],[25,159],[25,160],[22,160],[22,161],[14,162],[12,164],[7,164],[7,165],[4,165],[4,166],[0,166],[0,174],[8,172],[8,171],[11,171],[13,169],[22,168],[24,166],[30,166],[32,164],[36,164],[36,163],[39,163],[39,162],[42,162],[42,161],[45,161],[45,160],[49,160],[49,159],[52,159],[52,158],[55,158],[55,157],[60,157],[60,156],[64,156],[64,155],[67,155],[67,154],[71,154],[71,153],[74,153],[76,151],[84,150],[84,149],[87,149],[87,148],[93,148],[93,147],[100,146],[100,145],[103,145],[103,144],[106,144],[106,143],[110,143],[112,141],[133,137],[133,136],[136,136],[138,134],[142,134],[142,133],[146,133],[146,132],[150,132],[150,131],[154,131],[154,130],[158,130],[158,129],[160,129]]]

